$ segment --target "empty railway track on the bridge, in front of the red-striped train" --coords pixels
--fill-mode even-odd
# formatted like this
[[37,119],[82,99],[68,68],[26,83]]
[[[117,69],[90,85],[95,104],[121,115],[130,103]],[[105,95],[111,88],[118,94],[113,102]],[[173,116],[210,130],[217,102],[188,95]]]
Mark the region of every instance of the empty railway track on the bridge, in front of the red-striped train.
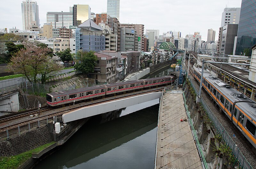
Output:
[[[78,102],[75,106],[62,107],[62,108],[58,108],[58,109],[52,108],[52,107],[45,107],[44,112],[40,112],[40,115],[33,117],[33,118],[29,118],[29,115],[38,113],[38,110],[36,112],[35,111],[26,112],[26,113],[22,114],[22,117],[20,117],[19,115],[16,115],[15,117],[7,117],[9,119],[9,121],[7,119],[1,119],[3,121],[5,120],[5,122],[2,123],[2,126],[0,126],[0,137],[1,138],[6,137],[6,130],[8,130],[9,135],[17,134],[17,128],[19,129],[19,133],[21,133],[25,130],[28,130],[28,126],[39,125],[39,121],[46,122],[46,121],[48,121],[49,118],[52,118],[54,116],[60,117],[62,114],[70,112],[70,111],[78,109],[78,108],[92,106],[92,105],[96,105],[99,103],[108,102],[111,100],[124,99],[126,97],[137,96],[137,95],[146,94],[149,92],[162,91],[164,89],[164,87],[165,86],[148,89],[148,90],[144,90],[144,91],[140,91],[140,92],[136,92],[136,93],[132,92],[132,93],[120,94],[120,95],[116,95],[116,96],[112,96],[112,97],[108,97],[108,98],[94,100],[93,102]],[[47,110],[49,108],[50,108],[50,110]],[[51,112],[49,112],[49,111],[51,111]],[[12,118],[14,118],[15,120]]]

